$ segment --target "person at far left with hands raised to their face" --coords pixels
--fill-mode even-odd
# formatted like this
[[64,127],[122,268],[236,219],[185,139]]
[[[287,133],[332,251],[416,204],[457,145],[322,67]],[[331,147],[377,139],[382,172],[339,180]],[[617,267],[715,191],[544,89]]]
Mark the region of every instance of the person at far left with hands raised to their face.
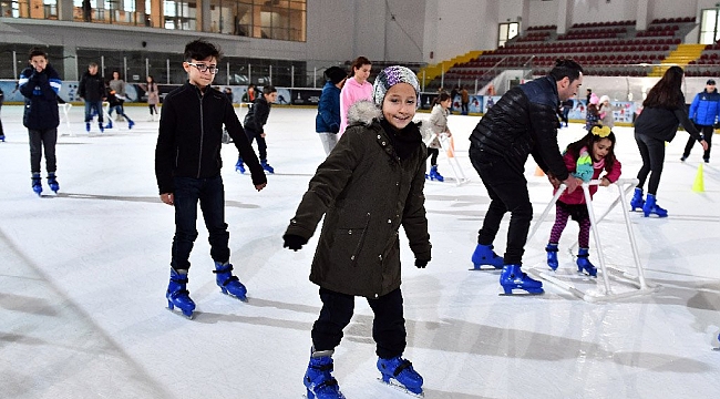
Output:
[[33,48],[29,53],[30,66],[20,73],[18,81],[20,93],[25,98],[22,124],[28,127],[30,135],[30,172],[32,173],[32,191],[40,195],[42,183],[40,177],[40,160],[45,151],[45,171],[48,185],[58,193],[60,184],[55,176],[56,158],[55,143],[58,142],[58,93],[62,86],[60,75],[48,63],[48,54],[40,48]]

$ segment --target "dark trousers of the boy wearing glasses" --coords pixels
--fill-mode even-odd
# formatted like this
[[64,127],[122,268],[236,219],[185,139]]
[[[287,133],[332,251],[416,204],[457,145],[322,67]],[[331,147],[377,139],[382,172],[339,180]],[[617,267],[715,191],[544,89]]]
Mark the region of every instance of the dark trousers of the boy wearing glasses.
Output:
[[174,269],[188,269],[193,244],[197,238],[197,203],[200,203],[205,226],[209,233],[210,257],[225,263],[230,258],[230,234],[225,223],[225,187],[223,177],[175,177],[175,237],[173,238]]

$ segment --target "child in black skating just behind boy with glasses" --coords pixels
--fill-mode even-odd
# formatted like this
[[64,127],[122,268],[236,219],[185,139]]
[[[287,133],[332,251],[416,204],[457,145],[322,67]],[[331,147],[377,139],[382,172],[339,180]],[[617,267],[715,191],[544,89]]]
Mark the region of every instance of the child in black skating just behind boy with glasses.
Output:
[[[266,85],[263,88],[263,95],[255,100],[245,115],[245,135],[247,136],[250,145],[254,140],[257,140],[257,151],[260,155],[260,165],[267,173],[275,173],[275,168],[267,162],[267,142],[265,141],[265,124],[270,115],[270,106],[277,100],[278,91],[275,86]],[[238,156],[235,164],[235,171],[245,173],[245,165],[243,154]]]

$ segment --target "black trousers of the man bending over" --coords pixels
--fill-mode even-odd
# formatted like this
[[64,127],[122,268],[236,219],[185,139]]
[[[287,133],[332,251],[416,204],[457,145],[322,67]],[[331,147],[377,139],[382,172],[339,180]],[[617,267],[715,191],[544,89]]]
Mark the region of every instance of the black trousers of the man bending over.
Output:
[[533,219],[527,180],[503,158],[484,158],[474,144],[470,146],[470,161],[483,181],[491,202],[483,227],[477,232],[477,244],[492,245],[506,212],[511,213],[507,244],[503,256],[505,265],[522,265],[525,242]]

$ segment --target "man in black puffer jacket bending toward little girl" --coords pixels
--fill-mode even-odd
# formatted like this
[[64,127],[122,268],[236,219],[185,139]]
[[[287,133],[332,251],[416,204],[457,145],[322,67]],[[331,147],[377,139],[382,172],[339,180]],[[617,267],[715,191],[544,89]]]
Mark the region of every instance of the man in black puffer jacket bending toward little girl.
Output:
[[[572,60],[558,60],[547,76],[510,90],[477,123],[470,136],[470,161],[480,174],[491,203],[472,257],[475,268],[503,268],[500,277],[505,294],[514,288],[542,294],[543,284],[521,270],[525,242],[533,218],[525,162],[529,154],[554,185],[565,183],[573,192],[578,181],[570,176],[557,146],[557,104],[577,93],[583,68]],[[510,212],[505,256],[493,252],[503,215]]]

